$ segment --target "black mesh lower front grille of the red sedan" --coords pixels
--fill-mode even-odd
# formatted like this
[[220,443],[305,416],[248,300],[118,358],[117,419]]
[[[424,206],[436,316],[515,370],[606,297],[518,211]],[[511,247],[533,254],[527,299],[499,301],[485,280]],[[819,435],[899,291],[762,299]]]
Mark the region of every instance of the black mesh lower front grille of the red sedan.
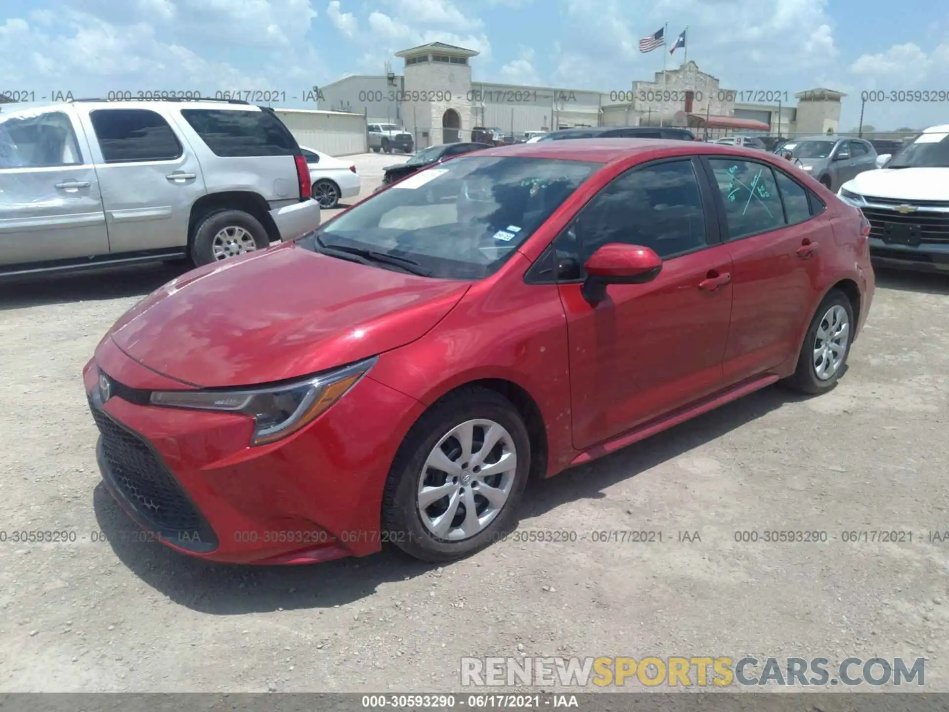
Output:
[[89,404],[102,433],[102,455],[111,481],[146,525],[162,531],[203,530],[203,518],[147,441]]

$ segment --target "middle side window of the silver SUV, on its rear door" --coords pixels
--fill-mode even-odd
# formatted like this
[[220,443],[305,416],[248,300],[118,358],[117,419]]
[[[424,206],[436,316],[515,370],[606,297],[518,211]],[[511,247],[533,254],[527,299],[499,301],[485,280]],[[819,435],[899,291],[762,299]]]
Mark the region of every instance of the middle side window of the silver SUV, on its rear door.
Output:
[[168,122],[148,109],[96,109],[89,114],[106,163],[173,160],[181,144]]

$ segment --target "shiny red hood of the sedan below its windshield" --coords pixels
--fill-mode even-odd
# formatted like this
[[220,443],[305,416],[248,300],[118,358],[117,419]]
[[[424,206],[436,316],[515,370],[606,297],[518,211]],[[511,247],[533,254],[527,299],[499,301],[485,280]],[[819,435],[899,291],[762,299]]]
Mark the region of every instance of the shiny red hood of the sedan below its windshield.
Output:
[[288,243],[178,277],[109,336],[140,364],[187,384],[266,384],[415,341],[469,286]]

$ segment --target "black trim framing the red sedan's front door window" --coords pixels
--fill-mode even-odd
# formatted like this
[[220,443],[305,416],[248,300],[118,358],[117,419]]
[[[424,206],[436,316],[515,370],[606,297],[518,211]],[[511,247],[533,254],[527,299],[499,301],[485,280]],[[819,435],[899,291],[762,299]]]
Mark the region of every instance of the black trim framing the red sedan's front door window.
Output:
[[[698,197],[702,201],[702,213],[704,216],[705,223],[705,244],[701,245],[693,250],[687,250],[682,253],[670,254],[668,257],[662,257],[662,262],[665,263],[668,260],[676,259],[678,257],[684,257],[687,254],[694,254],[702,252],[703,250],[708,250],[709,248],[717,247],[721,245],[724,240],[722,239],[721,225],[716,219],[716,205],[714,203],[715,193],[712,188],[714,184],[709,183],[708,175],[703,170],[703,167],[699,161],[701,157],[696,154],[686,154],[682,156],[666,156],[661,159],[649,160],[644,163],[637,163],[636,165],[630,166],[622,173],[617,174],[613,178],[609,179],[600,190],[590,196],[586,202],[580,206],[576,213],[569,219],[568,223],[564,225],[563,229],[554,235],[550,240],[548,246],[544,248],[544,251],[540,253],[540,256],[534,260],[533,264],[530,265],[528,271],[524,273],[524,283],[530,285],[551,285],[551,284],[583,284],[586,280],[586,274],[584,274],[584,266],[580,265],[581,276],[576,279],[560,279],[559,275],[553,274],[552,277],[543,277],[541,276],[543,272],[553,272],[556,269],[556,264],[552,264],[553,255],[555,253],[555,245],[557,240],[561,239],[562,235],[566,234],[580,219],[587,207],[593,202],[593,200],[600,196],[610,185],[615,181],[623,178],[634,171],[639,171],[644,168],[650,168],[653,166],[661,165],[662,163],[672,163],[683,160],[688,160],[692,163],[692,170],[696,175],[696,182],[698,182]],[[596,174],[592,174],[595,176]],[[589,179],[589,178],[587,178]],[[580,256],[579,254],[577,255]],[[545,265],[545,262],[551,262],[549,265]],[[579,259],[578,259],[579,262]]]

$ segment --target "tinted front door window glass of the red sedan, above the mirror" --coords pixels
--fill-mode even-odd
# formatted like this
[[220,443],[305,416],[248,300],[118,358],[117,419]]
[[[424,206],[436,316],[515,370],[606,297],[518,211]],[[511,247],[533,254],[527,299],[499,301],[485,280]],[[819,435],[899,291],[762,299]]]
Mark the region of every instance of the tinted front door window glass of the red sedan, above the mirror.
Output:
[[690,159],[634,168],[614,179],[575,223],[581,264],[609,242],[642,245],[663,259],[706,244],[698,178]]

